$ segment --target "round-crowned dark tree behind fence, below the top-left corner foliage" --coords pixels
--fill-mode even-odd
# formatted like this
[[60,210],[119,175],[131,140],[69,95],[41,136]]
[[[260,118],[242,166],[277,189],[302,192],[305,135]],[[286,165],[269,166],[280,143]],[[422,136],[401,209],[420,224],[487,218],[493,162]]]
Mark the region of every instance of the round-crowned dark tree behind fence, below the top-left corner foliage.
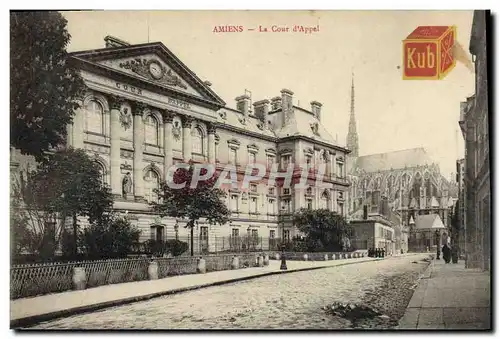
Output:
[[65,222],[73,221],[73,252],[77,253],[78,216],[92,224],[105,217],[113,200],[110,189],[101,183],[97,163],[83,150],[73,148],[48,155],[36,171],[21,178],[14,190],[22,204],[19,210],[29,220],[30,246],[35,253],[54,254]]

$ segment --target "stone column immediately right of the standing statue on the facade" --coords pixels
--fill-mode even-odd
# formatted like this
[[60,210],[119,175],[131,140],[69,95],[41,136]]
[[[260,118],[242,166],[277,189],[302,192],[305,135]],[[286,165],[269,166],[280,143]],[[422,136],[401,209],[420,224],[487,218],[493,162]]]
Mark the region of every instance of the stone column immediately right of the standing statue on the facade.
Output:
[[134,195],[135,200],[144,199],[144,180],[142,176],[142,160],[144,151],[144,120],[143,113],[146,109],[143,103],[136,103],[134,114]]

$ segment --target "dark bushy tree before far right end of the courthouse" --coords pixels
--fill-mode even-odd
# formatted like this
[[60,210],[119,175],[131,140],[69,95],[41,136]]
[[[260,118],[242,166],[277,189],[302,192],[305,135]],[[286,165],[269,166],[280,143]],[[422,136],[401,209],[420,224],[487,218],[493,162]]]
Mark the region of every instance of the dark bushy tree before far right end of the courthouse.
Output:
[[310,251],[338,250],[343,240],[351,235],[344,217],[327,209],[301,208],[294,213],[293,222],[305,234]]

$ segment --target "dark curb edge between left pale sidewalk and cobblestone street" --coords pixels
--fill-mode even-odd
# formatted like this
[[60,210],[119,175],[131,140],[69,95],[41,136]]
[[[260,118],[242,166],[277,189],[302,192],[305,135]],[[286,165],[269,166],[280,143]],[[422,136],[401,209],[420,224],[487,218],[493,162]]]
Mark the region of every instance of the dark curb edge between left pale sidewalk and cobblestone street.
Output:
[[106,301],[106,302],[102,302],[102,303],[98,303],[98,304],[85,305],[85,306],[81,306],[81,307],[74,307],[74,308],[69,308],[66,310],[55,311],[55,312],[33,315],[33,316],[29,316],[29,317],[11,320],[10,321],[10,329],[22,330],[22,327],[33,326],[33,325],[36,325],[36,324],[44,322],[44,321],[54,320],[57,318],[66,318],[66,317],[69,317],[69,316],[72,316],[75,314],[89,313],[89,312],[93,312],[93,311],[97,311],[97,310],[101,310],[101,309],[105,309],[105,308],[109,308],[109,307],[122,306],[125,304],[131,304],[131,303],[138,302],[138,301],[145,301],[145,300],[158,298],[158,297],[162,297],[162,296],[166,296],[166,295],[189,292],[189,291],[198,290],[201,288],[206,288],[206,287],[211,287],[211,286],[226,285],[226,284],[235,283],[235,282],[239,282],[239,281],[262,278],[262,277],[277,275],[277,274],[313,271],[313,270],[319,270],[319,269],[323,269],[323,268],[334,268],[334,267],[340,267],[340,266],[346,266],[346,265],[361,264],[361,263],[366,263],[366,262],[370,262],[370,261],[376,261],[376,260],[368,259],[368,260],[356,261],[356,262],[346,262],[346,263],[342,263],[342,264],[334,265],[334,266],[318,266],[318,267],[308,267],[308,268],[297,268],[297,269],[287,270],[287,271],[266,272],[266,273],[260,273],[260,274],[256,274],[256,275],[252,275],[252,276],[248,276],[248,277],[227,279],[227,280],[216,281],[216,282],[202,284],[202,285],[181,287],[181,288],[168,290],[168,291],[155,292],[155,293],[141,295],[141,296],[137,296],[137,297],[111,300],[111,301]]

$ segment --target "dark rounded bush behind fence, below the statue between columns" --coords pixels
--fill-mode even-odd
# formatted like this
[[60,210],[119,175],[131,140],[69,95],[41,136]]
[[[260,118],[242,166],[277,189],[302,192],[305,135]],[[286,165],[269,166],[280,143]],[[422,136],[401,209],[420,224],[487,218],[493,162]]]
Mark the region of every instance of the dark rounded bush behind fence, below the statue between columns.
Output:
[[140,233],[127,218],[107,214],[81,232],[80,245],[90,258],[123,258]]

